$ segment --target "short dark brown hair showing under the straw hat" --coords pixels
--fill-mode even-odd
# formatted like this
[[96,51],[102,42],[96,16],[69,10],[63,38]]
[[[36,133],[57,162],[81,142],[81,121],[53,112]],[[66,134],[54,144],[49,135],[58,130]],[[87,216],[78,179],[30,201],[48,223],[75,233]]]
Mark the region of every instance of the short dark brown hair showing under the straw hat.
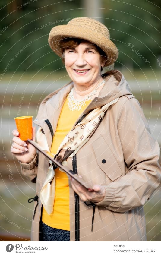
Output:
[[[81,39],[81,38],[65,38],[62,39],[60,41],[61,47],[62,47],[62,62],[64,64],[64,51],[65,48],[70,47],[70,48],[74,48],[74,46],[81,44],[82,42],[87,41],[85,39]],[[107,55],[106,53],[96,44],[91,43],[93,46],[96,47],[96,50],[99,52],[100,56],[101,56],[101,63],[104,63],[107,59]],[[101,71],[103,70],[103,68],[101,67]]]

